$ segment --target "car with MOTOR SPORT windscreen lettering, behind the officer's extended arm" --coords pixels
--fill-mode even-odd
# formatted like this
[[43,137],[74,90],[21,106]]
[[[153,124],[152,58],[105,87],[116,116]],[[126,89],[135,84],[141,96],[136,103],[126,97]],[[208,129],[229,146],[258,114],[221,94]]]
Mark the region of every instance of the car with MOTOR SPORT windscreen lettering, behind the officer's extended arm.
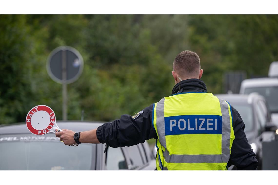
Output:
[[[57,122],[60,128],[87,131],[101,123]],[[154,170],[147,142],[129,147],[82,143],[67,146],[54,133],[31,134],[25,124],[1,126],[1,170]]]

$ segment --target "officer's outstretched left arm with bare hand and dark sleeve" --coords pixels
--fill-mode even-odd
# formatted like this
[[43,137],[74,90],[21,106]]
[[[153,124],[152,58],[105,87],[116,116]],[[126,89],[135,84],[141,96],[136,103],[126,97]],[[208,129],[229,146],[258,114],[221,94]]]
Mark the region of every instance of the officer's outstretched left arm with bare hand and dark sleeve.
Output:
[[[152,126],[152,106],[142,110],[137,116],[122,115],[120,119],[105,123],[97,129],[80,133],[81,143],[106,143],[111,147],[124,147],[143,143],[150,138],[156,138],[156,132]],[[65,145],[73,145],[74,131],[62,129],[57,132],[60,140]]]

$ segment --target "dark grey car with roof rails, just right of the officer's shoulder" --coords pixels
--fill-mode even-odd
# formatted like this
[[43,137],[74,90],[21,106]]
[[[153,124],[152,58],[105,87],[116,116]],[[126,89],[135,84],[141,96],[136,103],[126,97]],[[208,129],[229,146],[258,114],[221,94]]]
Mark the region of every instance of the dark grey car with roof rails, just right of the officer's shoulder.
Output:
[[[215,95],[229,102],[242,117],[245,135],[262,169],[262,141],[274,138],[277,127],[272,123],[270,111],[265,98],[257,93],[250,95],[222,94]],[[229,169],[236,169],[231,166]]]

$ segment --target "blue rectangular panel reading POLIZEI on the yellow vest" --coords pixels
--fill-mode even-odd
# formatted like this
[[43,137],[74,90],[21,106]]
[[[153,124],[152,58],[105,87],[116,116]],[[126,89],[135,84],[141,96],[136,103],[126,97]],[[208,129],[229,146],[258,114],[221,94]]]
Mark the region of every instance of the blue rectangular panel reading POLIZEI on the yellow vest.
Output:
[[222,134],[222,116],[183,115],[165,117],[165,135]]

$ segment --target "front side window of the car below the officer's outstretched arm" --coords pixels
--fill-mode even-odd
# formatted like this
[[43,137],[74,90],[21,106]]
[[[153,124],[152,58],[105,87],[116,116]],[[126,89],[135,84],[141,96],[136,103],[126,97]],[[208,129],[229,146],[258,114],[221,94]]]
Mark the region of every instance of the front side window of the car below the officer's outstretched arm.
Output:
[[125,156],[120,147],[113,148],[109,147],[106,151],[106,169],[107,170],[119,170],[119,169],[128,169]]

